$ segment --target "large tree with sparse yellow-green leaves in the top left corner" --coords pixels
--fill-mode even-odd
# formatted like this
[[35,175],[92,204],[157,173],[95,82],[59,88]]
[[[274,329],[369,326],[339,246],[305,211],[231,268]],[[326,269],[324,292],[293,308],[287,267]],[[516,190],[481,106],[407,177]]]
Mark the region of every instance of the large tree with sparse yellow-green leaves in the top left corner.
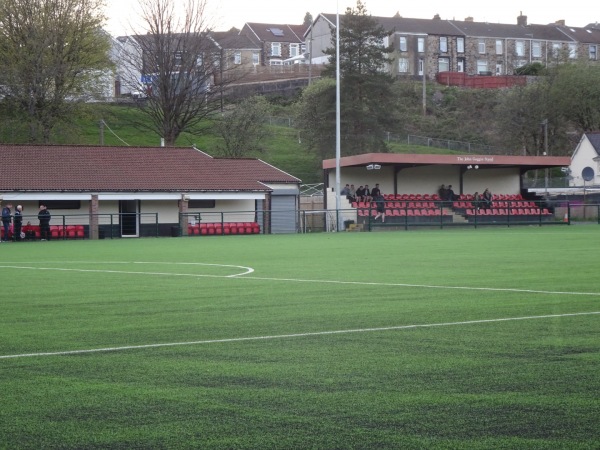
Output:
[[47,143],[111,69],[101,8],[100,0],[0,2],[0,95],[30,142]]

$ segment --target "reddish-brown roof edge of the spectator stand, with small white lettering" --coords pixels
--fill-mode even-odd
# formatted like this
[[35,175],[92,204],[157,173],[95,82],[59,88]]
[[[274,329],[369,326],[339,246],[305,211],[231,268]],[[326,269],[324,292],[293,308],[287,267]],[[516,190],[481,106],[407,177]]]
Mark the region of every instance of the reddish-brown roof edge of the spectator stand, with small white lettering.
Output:
[[[567,167],[568,156],[499,156],[499,155],[424,155],[400,153],[365,153],[340,158],[340,167],[381,166],[416,167],[433,165],[466,166],[476,164],[479,168],[522,167],[527,170],[550,167]],[[335,159],[323,161],[323,169],[336,167]]]

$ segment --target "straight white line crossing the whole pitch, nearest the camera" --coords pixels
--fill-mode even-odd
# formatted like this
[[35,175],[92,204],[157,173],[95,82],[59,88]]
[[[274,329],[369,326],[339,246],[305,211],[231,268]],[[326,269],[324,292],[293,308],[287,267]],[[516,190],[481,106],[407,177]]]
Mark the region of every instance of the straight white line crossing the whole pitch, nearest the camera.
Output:
[[547,315],[542,315],[542,316],[505,317],[505,318],[500,318],[500,319],[468,320],[468,321],[462,321],[462,322],[442,322],[442,323],[429,323],[429,324],[398,325],[398,326],[378,327],[378,328],[358,328],[358,329],[349,329],[349,330],[315,331],[312,333],[278,334],[278,335],[240,337],[240,338],[229,338],[229,339],[210,339],[210,340],[204,340],[204,341],[170,342],[170,343],[146,344],[146,345],[127,345],[127,346],[122,346],[122,347],[105,347],[105,348],[95,348],[95,349],[88,349],[88,350],[68,350],[68,351],[62,351],[62,352],[22,353],[19,355],[0,355],[0,359],[29,358],[29,357],[35,357],[35,356],[68,356],[68,355],[81,355],[81,354],[86,354],[86,353],[118,352],[118,351],[124,351],[124,350],[139,350],[139,349],[147,349],[147,348],[175,347],[175,346],[184,346],[184,345],[189,346],[189,345],[219,344],[219,343],[228,343],[228,342],[248,342],[248,341],[272,340],[272,339],[290,339],[290,338],[301,338],[301,337],[311,337],[311,336],[326,336],[326,335],[333,335],[333,334],[397,331],[397,330],[409,330],[409,329],[415,329],[415,328],[449,327],[449,326],[458,326],[458,325],[474,325],[474,324],[482,324],[482,323],[509,322],[509,321],[515,321],[515,320],[554,319],[554,318],[560,318],[560,317],[589,316],[589,315],[594,315],[594,314],[600,314],[600,311],[566,313],[566,314],[547,314]]

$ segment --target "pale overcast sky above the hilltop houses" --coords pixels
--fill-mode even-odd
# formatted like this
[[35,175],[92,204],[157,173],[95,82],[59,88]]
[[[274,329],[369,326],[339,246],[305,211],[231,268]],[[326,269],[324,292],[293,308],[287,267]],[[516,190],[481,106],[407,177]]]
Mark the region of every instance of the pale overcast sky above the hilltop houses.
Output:
[[[245,22],[274,24],[301,24],[306,12],[313,17],[319,13],[344,14],[347,7],[356,6],[356,0],[206,0],[213,28],[225,31],[241,28]],[[110,17],[108,31],[113,35],[130,34],[127,20],[136,0],[106,0]],[[439,14],[442,19],[464,20],[473,17],[477,22],[516,24],[522,12],[529,23],[547,24],[566,20],[567,25],[583,27],[600,22],[600,9],[590,0],[551,2],[548,0],[504,0],[496,2],[429,0],[427,2],[400,2],[394,0],[364,0],[367,11],[373,16],[391,17],[399,12],[402,17],[431,19]],[[597,17],[593,17],[596,15]],[[123,19],[126,17],[128,19]]]

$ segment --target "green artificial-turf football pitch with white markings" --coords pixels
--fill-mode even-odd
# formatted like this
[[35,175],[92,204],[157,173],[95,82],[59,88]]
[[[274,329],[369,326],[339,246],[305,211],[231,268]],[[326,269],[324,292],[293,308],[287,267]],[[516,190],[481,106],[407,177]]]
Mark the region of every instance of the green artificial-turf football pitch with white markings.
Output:
[[0,245],[0,448],[600,448],[600,227]]

